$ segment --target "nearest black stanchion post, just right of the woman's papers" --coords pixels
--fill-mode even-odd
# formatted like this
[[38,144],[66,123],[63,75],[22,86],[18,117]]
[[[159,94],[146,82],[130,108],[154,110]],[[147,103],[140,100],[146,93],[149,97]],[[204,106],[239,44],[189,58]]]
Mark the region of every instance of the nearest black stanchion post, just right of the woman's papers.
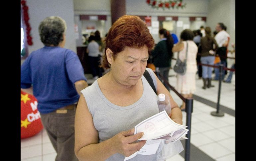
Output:
[[185,161],[190,160],[190,139],[191,139],[191,118],[192,118],[192,112],[193,112],[193,99],[186,99],[186,113],[187,113],[187,122],[186,125],[188,126],[187,129],[189,129],[186,137],[186,148],[185,148]]

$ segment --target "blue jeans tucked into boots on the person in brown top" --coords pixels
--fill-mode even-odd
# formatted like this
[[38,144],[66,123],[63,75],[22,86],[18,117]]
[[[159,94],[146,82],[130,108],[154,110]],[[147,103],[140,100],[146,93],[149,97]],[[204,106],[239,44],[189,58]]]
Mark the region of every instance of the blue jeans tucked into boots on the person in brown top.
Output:
[[[214,60],[215,60],[215,56],[202,56],[201,57],[202,64],[213,65]],[[202,77],[211,79],[211,74],[212,74],[212,67],[202,65]]]

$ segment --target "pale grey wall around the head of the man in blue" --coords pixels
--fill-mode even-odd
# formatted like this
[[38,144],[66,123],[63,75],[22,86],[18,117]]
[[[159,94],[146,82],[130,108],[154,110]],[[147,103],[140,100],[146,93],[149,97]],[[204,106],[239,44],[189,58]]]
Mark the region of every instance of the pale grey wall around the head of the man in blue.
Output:
[[44,46],[40,40],[38,27],[40,22],[48,16],[60,16],[66,21],[66,44],[64,47],[76,52],[72,0],[27,0],[27,5],[29,7],[29,23],[32,28],[31,36],[33,38],[33,45],[28,47],[29,54]]

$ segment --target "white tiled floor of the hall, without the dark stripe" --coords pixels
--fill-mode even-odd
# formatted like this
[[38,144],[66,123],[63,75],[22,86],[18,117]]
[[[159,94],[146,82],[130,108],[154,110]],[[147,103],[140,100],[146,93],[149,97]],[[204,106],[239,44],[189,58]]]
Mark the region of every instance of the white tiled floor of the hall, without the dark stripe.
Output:
[[[228,64],[231,66],[231,62]],[[170,75],[175,75],[173,70]],[[176,86],[176,77],[169,77],[169,82]],[[215,87],[203,90],[202,80],[197,79],[195,95],[216,103],[218,81],[212,84]],[[173,91],[171,95],[181,105],[182,100]],[[221,105],[235,110],[235,75],[232,83],[222,83],[220,96]],[[191,143],[213,160],[235,161],[235,117],[226,113],[223,117],[214,117],[210,115],[213,111],[216,109],[193,100]],[[183,122],[186,124],[186,112],[183,112]],[[44,129],[35,136],[21,139],[22,161],[54,161],[55,157],[56,152]],[[184,161],[184,158],[177,154],[167,161]]]

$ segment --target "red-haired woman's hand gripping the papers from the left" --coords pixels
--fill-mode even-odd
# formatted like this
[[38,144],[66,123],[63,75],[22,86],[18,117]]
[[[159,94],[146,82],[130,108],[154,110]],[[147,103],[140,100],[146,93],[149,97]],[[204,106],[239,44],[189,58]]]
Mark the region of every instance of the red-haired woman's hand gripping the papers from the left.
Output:
[[146,140],[141,140],[139,142],[135,142],[139,138],[141,138],[144,133],[139,132],[135,135],[134,128],[122,131],[113,136],[110,140],[111,147],[113,147],[114,153],[120,153],[126,157],[132,155],[136,151],[139,151],[142,146],[145,145]]

